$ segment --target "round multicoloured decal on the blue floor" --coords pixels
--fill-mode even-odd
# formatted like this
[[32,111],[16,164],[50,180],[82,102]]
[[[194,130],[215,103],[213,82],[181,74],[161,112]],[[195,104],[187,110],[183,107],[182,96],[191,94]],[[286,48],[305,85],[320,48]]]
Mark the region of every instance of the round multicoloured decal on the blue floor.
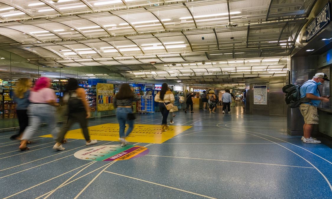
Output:
[[90,161],[115,161],[138,158],[149,153],[149,149],[141,146],[104,145],[82,149],[74,154],[78,159]]

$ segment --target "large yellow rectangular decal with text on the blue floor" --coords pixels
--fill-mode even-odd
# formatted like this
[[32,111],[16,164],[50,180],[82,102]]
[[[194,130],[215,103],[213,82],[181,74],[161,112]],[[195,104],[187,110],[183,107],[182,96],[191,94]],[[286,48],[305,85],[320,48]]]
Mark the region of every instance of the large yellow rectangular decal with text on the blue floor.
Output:
[[[161,132],[161,125],[134,124],[134,130],[126,138],[128,142],[143,142],[160,144],[191,128],[191,126],[169,126],[166,132]],[[88,127],[92,140],[119,141],[119,124],[107,123]],[[125,129],[127,130],[127,128]],[[41,137],[52,137],[51,134]],[[82,129],[68,131],[66,138],[84,139]]]

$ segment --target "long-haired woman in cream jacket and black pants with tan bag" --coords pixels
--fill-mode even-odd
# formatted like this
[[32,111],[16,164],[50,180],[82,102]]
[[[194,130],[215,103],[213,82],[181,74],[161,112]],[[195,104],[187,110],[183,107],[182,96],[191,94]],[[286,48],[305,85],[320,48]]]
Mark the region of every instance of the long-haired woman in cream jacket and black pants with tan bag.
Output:
[[161,85],[161,91],[157,93],[154,100],[156,102],[159,102],[159,110],[162,114],[161,132],[165,132],[165,128],[167,128],[167,117],[169,113],[166,105],[175,101],[174,95],[171,91],[168,90],[168,85],[166,83]]

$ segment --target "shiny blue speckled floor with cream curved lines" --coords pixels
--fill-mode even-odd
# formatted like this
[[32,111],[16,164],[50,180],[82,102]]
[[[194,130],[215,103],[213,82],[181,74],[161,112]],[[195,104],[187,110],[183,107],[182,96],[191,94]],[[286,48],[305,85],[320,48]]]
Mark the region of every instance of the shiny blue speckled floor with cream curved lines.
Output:
[[[162,144],[131,143],[150,152],[124,161],[79,160],[73,154],[90,146],[77,139],[53,151],[52,138],[38,137],[45,128],[24,152],[9,140],[14,132],[1,133],[0,198],[332,198],[328,143],[287,135],[286,117],[247,115],[241,106],[217,112],[177,112],[174,125],[190,129]],[[135,122],[160,124],[161,114]],[[89,121],[104,123],[116,118]]]

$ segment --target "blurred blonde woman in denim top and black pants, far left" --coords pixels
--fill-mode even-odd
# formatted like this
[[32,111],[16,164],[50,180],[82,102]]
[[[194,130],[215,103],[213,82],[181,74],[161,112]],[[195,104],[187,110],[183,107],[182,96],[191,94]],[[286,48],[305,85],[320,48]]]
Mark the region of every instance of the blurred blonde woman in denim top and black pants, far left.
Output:
[[[22,133],[25,128],[28,126],[28,114],[27,109],[30,104],[29,102],[29,94],[30,87],[32,86],[32,82],[28,78],[21,78],[14,90],[14,101],[17,104],[16,106],[16,114],[19,119],[20,131],[19,134],[15,134],[10,137],[11,140],[21,140]],[[31,142],[28,142],[30,144]]]

